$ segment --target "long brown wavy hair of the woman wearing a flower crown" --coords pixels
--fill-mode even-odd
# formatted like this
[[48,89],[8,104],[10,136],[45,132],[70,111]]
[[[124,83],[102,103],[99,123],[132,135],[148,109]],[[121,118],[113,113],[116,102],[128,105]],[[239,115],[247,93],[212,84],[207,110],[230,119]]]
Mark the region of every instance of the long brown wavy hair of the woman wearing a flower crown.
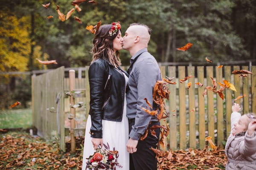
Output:
[[111,24],[100,26],[99,30],[95,33],[93,38],[92,62],[98,58],[103,58],[109,60],[109,62],[115,66],[120,66],[119,51],[116,51],[115,54],[113,51],[113,40],[119,32],[110,36],[108,32],[111,26]]

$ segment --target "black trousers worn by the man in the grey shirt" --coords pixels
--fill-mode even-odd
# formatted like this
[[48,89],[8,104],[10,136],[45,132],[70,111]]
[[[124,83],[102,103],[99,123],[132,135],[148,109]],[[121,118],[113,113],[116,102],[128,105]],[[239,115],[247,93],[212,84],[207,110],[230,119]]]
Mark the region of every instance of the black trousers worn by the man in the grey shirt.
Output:
[[[134,122],[129,123],[129,133]],[[160,125],[160,122],[151,122],[149,125]],[[155,130],[157,137],[159,137],[160,129]],[[151,135],[148,130],[148,136],[143,141],[139,140],[137,145],[137,152],[130,153],[130,170],[157,170],[156,154],[149,148],[157,147],[158,138]]]

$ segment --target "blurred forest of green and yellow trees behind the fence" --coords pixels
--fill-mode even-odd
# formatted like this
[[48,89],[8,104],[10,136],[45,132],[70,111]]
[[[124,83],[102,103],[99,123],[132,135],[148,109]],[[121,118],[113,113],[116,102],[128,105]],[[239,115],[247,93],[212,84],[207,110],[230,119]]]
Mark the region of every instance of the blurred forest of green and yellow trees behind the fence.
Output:
[[[122,34],[131,23],[152,29],[148,51],[157,62],[201,62],[213,64],[256,59],[255,0],[95,0],[81,3],[80,12],[62,22],[56,5],[67,14],[72,0],[0,1],[0,72],[32,71],[90,65],[93,34],[86,26],[120,21]],[[41,4],[51,3],[48,9]],[[53,18],[47,19],[49,15]],[[74,20],[81,19],[82,24]],[[187,42],[188,51],[177,51]],[[55,59],[58,65],[37,60]],[[130,54],[120,51],[122,65]],[[18,81],[17,81],[18,80]],[[31,80],[24,76],[0,76],[0,108],[17,100],[28,107]]]

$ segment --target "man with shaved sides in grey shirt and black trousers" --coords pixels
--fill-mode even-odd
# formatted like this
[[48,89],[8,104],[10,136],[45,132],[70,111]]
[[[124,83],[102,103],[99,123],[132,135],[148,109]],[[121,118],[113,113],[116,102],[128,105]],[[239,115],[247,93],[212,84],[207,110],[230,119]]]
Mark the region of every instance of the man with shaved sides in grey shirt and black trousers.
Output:
[[[123,48],[131,54],[131,66],[128,69],[127,117],[129,119],[129,137],[126,150],[130,155],[130,170],[157,170],[156,154],[150,150],[156,148],[158,139],[151,135],[140,140],[148,125],[160,125],[156,116],[145,113],[141,107],[147,108],[144,98],[153,104],[153,89],[161,73],[156,59],[148,53],[147,47],[151,30],[148,26],[133,23],[125,31]],[[151,123],[150,123],[151,122]],[[160,129],[156,131],[159,137]]]

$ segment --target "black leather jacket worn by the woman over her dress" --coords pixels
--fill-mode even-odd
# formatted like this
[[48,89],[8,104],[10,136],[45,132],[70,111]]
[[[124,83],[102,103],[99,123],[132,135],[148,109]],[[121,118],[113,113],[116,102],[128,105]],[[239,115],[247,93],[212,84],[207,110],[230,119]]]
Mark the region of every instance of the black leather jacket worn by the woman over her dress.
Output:
[[91,137],[102,138],[102,119],[121,122],[125,98],[122,68],[109,61],[96,59],[89,68]]

